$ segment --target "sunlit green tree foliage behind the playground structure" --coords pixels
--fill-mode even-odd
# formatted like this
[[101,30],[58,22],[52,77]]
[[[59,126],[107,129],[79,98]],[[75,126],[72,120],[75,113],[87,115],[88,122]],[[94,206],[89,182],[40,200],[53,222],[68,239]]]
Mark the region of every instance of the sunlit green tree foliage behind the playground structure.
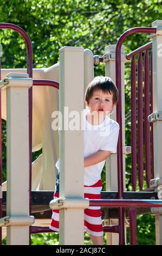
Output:
[[[154,20],[161,19],[161,0],[6,0],[0,1],[0,22],[14,23],[22,27],[33,43],[34,68],[53,65],[59,60],[62,46],[83,46],[100,56],[105,46],[116,44],[119,36],[132,27],[151,27]],[[2,68],[25,68],[25,43],[17,32],[1,29],[3,45]],[[124,42],[125,52],[150,41],[146,34],[129,36]],[[104,74],[104,65],[95,69],[95,74]],[[130,145],[130,71],[126,68],[125,108],[126,145]],[[3,121],[3,181],[6,179],[6,128]],[[37,154],[33,156],[37,157]],[[127,157],[127,187],[130,183],[131,161]],[[103,176],[104,176],[103,172]],[[146,244],[146,233],[154,237],[153,217],[139,217],[139,244]],[[146,223],[150,222],[149,227]],[[145,227],[145,228],[144,228]],[[57,237],[33,235],[33,244],[50,244]],[[48,241],[47,241],[48,240]],[[42,242],[41,242],[42,241]],[[57,242],[56,242],[57,243]],[[150,242],[152,243],[152,241]]]

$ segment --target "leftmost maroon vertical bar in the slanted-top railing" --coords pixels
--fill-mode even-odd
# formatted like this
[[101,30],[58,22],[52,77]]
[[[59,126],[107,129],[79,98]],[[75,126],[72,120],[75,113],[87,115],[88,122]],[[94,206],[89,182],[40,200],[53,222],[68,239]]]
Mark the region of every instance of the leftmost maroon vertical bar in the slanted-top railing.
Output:
[[131,62],[131,148],[132,148],[132,187],[137,187],[137,136],[136,136],[136,87],[135,87],[135,57]]

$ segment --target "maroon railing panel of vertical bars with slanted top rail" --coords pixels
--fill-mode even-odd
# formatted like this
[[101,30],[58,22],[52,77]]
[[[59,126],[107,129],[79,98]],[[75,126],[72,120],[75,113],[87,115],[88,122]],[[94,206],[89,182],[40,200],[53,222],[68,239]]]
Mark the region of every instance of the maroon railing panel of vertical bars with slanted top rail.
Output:
[[[137,189],[137,155],[138,155],[138,180],[140,191],[143,190],[144,185],[144,129],[143,124],[145,121],[145,162],[146,162],[146,184],[147,188],[150,187],[151,179],[151,158],[152,158],[152,178],[154,178],[154,166],[153,166],[153,124],[148,121],[148,115],[150,114],[150,105],[152,113],[152,51],[151,58],[149,58],[149,50],[152,49],[152,42],[139,47],[135,51],[126,54],[127,59],[131,59],[131,142],[132,142],[132,187],[133,191]],[[144,67],[142,64],[142,53],[144,55]],[[137,76],[136,79],[136,63],[135,57],[138,56],[137,64]],[[151,70],[150,70],[151,59]],[[143,92],[143,68],[144,68],[144,92]],[[151,76],[150,76],[151,74]],[[136,82],[138,86],[136,87]],[[136,93],[138,90],[138,94]],[[144,107],[143,107],[143,93],[144,93]],[[151,99],[150,99],[151,93]],[[138,104],[137,104],[138,97]],[[137,112],[138,105],[138,112]],[[138,113],[138,125],[136,125]],[[143,119],[143,116],[145,117]],[[136,127],[137,126],[137,127]],[[138,134],[136,131],[138,130]],[[138,144],[138,152],[137,152]],[[150,147],[151,145],[151,147]],[[138,153],[138,154],[137,154]],[[152,157],[151,157],[152,156]]]

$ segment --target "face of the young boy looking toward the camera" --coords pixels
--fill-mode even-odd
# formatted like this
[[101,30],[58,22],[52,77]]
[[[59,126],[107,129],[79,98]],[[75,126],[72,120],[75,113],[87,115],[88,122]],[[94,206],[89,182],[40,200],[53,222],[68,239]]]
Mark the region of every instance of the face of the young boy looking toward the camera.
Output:
[[104,93],[102,90],[96,90],[93,92],[89,103],[86,102],[86,105],[90,108],[91,112],[102,112],[102,114],[106,115],[113,110],[113,94]]

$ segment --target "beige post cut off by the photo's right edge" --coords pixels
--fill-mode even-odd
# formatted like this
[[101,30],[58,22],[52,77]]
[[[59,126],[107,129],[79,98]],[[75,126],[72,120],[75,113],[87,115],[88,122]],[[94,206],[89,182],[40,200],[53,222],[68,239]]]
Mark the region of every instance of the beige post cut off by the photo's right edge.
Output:
[[[156,20],[152,27],[157,28],[157,33],[152,34],[152,60],[153,60],[153,113],[162,113],[162,20]],[[162,121],[156,120],[153,123],[154,136],[154,178],[162,179],[162,144],[161,144]],[[158,186],[155,191],[160,192]],[[161,196],[161,193],[158,193]],[[161,199],[159,197],[159,199]],[[162,215],[155,216],[156,244],[162,245]]]

